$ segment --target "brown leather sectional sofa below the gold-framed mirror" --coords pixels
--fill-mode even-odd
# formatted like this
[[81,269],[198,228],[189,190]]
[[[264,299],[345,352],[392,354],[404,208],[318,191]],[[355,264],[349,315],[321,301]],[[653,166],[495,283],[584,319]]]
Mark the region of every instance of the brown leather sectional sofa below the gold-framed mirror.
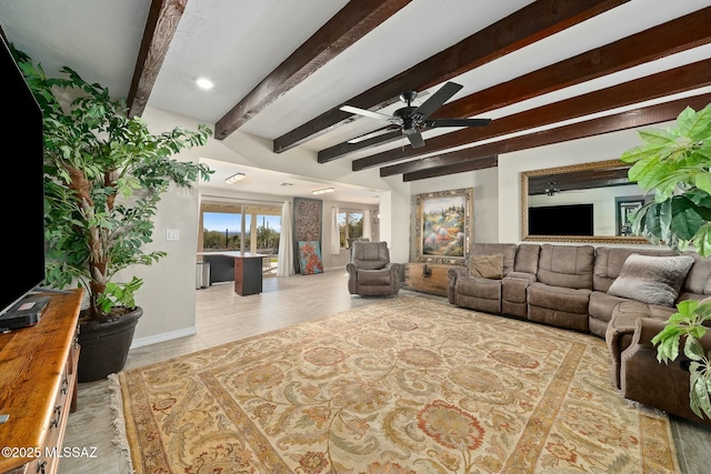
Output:
[[[688,360],[680,355],[674,363],[660,364],[651,343],[679,301],[711,296],[711,259],[684,253],[693,263],[677,282],[673,303],[662,305],[611,294],[610,289],[630,255],[677,256],[670,250],[478,243],[471,252],[499,254],[503,262],[501,279],[471,276],[468,266],[450,269],[449,302],[604,337],[612,360],[612,383],[624,397],[711,424],[689,409]],[[711,333],[703,337],[702,345],[711,351]]]

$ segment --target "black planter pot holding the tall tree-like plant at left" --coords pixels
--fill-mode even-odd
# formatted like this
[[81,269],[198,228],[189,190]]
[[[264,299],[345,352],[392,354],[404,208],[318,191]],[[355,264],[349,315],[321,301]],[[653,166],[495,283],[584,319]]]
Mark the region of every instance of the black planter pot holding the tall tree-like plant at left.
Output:
[[129,347],[141,307],[106,323],[82,323],[79,326],[78,380],[93,382],[120,372],[126,365]]

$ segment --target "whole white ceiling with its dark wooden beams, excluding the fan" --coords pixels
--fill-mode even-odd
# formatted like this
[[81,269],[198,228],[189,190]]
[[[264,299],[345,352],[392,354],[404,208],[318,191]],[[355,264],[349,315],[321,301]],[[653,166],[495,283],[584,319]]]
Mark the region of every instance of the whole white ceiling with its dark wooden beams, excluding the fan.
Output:
[[[0,20],[11,41],[58,64],[83,58],[93,69],[84,75],[113,82],[132,114],[163,109],[214,123],[218,140],[237,131],[266,139],[276,159],[302,148],[322,167],[347,160],[353,172],[377,167],[404,181],[497,167],[505,153],[661,123],[711,102],[708,0],[10,3]],[[29,17],[62,7],[70,12],[58,22],[77,24],[59,40],[36,38],[47,33]],[[52,47],[72,34],[76,48],[99,42],[103,60],[124,65],[112,73],[71,44]],[[199,75],[213,90],[196,92]],[[448,81],[463,87],[430,119],[492,119],[487,127],[424,131],[424,145],[412,148],[388,122],[340,110],[389,115],[401,92],[431,97]]]

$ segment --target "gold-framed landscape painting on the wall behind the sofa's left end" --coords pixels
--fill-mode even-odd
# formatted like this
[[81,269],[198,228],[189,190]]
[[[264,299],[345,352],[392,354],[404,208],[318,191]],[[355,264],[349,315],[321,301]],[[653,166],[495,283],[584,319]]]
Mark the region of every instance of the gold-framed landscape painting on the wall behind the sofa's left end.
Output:
[[464,264],[472,235],[473,190],[457,189],[415,195],[415,260]]

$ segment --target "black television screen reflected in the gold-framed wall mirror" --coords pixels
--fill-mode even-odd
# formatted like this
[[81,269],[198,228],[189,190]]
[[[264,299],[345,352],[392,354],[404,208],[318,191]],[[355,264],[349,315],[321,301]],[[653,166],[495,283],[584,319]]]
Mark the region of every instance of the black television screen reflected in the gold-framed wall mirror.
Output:
[[592,204],[529,208],[530,235],[592,235]]

